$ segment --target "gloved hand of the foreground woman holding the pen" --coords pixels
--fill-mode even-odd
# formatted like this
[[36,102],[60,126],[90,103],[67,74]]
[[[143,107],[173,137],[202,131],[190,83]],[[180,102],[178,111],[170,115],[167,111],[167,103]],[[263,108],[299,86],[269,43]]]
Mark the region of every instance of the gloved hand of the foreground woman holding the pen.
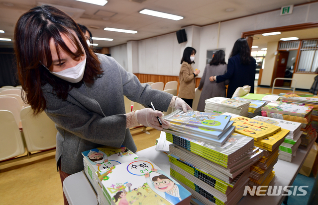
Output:
[[170,123],[164,119],[160,119],[162,125],[159,124],[157,117],[162,117],[163,114],[160,111],[154,111],[151,108],[144,108],[135,111],[135,117],[139,124],[146,127],[152,127],[157,130],[168,129]]

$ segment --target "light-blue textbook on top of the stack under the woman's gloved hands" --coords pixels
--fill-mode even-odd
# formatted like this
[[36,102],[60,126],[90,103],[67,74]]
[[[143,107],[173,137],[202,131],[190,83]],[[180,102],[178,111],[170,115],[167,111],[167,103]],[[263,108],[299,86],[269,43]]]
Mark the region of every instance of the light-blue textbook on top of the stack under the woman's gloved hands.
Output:
[[176,110],[164,116],[162,119],[170,123],[180,123],[182,125],[193,125],[199,128],[223,131],[231,119],[231,116],[198,111],[188,111],[185,113],[183,110]]

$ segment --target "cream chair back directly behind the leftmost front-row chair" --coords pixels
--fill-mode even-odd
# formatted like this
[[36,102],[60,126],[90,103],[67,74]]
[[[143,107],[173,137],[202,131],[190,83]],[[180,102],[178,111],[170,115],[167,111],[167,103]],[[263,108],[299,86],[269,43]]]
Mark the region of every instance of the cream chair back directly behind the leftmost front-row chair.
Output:
[[20,103],[17,99],[15,99],[14,97],[6,97],[6,96],[2,96],[0,97],[0,110],[8,110],[10,111],[15,119],[15,122],[17,124],[18,127],[20,124],[20,111],[21,111],[21,106]]

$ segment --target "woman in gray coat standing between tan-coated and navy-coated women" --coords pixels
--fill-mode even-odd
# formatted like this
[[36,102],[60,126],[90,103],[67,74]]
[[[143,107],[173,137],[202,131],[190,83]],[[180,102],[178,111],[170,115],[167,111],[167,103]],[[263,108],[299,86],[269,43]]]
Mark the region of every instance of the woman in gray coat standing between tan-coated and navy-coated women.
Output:
[[222,50],[216,51],[213,58],[204,69],[202,78],[198,89],[202,90],[200,100],[198,103],[198,111],[204,112],[206,106],[206,99],[212,97],[225,97],[226,87],[229,80],[225,80],[222,83],[216,83],[210,81],[210,77],[214,75],[222,75],[226,73],[225,53]]

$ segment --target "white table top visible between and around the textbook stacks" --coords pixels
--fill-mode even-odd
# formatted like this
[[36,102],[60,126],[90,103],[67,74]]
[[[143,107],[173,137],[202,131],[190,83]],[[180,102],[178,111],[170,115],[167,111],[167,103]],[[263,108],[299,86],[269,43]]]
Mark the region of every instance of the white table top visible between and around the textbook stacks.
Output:
[[[275,178],[270,186],[291,186],[301,169],[314,141],[307,148],[299,147],[293,162],[278,160],[274,165]],[[169,158],[167,154],[155,150],[156,146],[137,151],[139,157],[147,157],[164,172],[170,174]],[[63,183],[63,191],[70,205],[97,205],[95,192],[91,188],[83,172],[67,177]],[[284,194],[282,192],[282,194]],[[285,196],[245,196],[237,205],[281,205]]]

